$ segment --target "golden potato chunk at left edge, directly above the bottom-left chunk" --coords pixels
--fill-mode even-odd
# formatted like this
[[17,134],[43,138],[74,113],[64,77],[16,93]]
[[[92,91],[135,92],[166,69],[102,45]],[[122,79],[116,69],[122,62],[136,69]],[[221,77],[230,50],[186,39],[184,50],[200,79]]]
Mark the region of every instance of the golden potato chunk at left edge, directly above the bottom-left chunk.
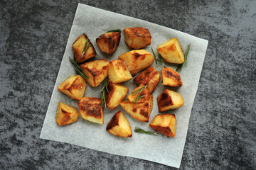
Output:
[[63,94],[80,101],[85,94],[86,81],[80,75],[74,75],[65,79],[58,90]]

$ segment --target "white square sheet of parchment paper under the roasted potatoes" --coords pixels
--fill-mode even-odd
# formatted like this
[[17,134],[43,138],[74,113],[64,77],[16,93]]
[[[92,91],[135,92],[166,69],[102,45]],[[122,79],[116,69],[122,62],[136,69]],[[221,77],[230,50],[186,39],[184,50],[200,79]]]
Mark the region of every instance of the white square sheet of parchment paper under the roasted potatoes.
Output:
[[[171,89],[177,91],[183,96],[184,105],[173,111],[166,111],[165,113],[172,113],[176,115],[177,127],[176,127],[176,137],[166,137],[159,134],[158,136],[144,135],[133,132],[132,137],[116,137],[106,131],[107,123],[110,119],[117,113],[117,111],[122,111],[124,116],[129,120],[129,123],[134,130],[135,127],[142,128],[144,130],[154,131],[149,127],[149,123],[142,123],[138,120],[132,118],[126,111],[118,106],[114,110],[106,108],[104,110],[104,125],[97,123],[91,123],[87,120],[83,120],[81,117],[77,122],[60,127],[55,123],[55,112],[58,106],[58,102],[62,101],[71,106],[78,108],[78,101],[75,101],[65,94],[58,91],[57,87],[68,77],[76,74],[75,69],[73,69],[68,57],[73,57],[72,44],[78,38],[79,35],[85,33],[88,38],[90,38],[92,44],[97,51],[97,56],[95,60],[104,58],[106,60],[115,60],[119,55],[124,52],[131,50],[124,43],[124,34],[122,32],[119,47],[117,47],[114,55],[105,55],[97,47],[95,42],[96,38],[107,32],[108,30],[130,28],[130,27],[144,27],[149,29],[151,33],[151,45],[145,47],[144,49],[151,52],[151,47],[154,48],[156,56],[158,53],[156,51],[157,45],[169,40],[170,38],[178,38],[181,46],[183,47],[183,52],[186,51],[188,43],[191,43],[191,51],[188,58],[188,67],[183,67],[181,71],[181,79],[183,80],[183,86],[179,88],[171,88],[168,86],[163,86],[162,79],[159,82],[156,90],[153,93],[154,96],[154,107],[151,112],[149,123],[154,118],[155,115],[159,113],[156,97],[161,94],[164,89]],[[58,77],[55,82],[53,89],[53,94],[50,99],[48,106],[48,111],[46,113],[46,118],[43,123],[43,128],[41,131],[41,139],[55,140],[58,142],[66,142],[73,145],[79,145],[81,147],[87,147],[90,149],[96,149],[102,152],[107,152],[110,154],[118,154],[122,156],[135,157],[139,159],[146,159],[151,162],[158,162],[160,164],[166,164],[169,166],[174,166],[178,168],[181,164],[181,158],[183,154],[183,148],[186,142],[186,134],[188,130],[188,121],[191,115],[191,109],[193,106],[193,101],[198,88],[198,82],[200,79],[201,69],[203,67],[203,60],[206,55],[206,49],[208,45],[208,40],[203,40],[201,38],[196,38],[187,33],[182,33],[178,30],[173,30],[171,28],[166,28],[164,26],[159,26],[154,23],[149,23],[147,21],[142,21],[137,18],[132,18],[129,16],[123,16],[118,13],[113,13],[110,11],[105,11],[100,8],[94,8],[92,6],[87,6],[84,4],[78,4],[77,11],[75,13],[75,18],[73,21],[73,26],[70,30],[70,35],[68,38],[68,43],[65,48],[65,53],[63,55],[63,60],[60,65],[60,70],[58,72]],[[151,52],[152,54],[152,52]],[[162,66],[159,63],[156,67],[155,62],[152,64],[159,73],[161,73]],[[172,67],[176,69],[176,64],[166,64],[166,67]],[[136,87],[134,81],[130,80],[123,83],[125,86],[129,87],[129,93]],[[102,84],[97,88],[93,88],[87,84],[85,90],[85,96],[93,96],[100,98],[100,89]],[[128,94],[129,94],[128,93]]]

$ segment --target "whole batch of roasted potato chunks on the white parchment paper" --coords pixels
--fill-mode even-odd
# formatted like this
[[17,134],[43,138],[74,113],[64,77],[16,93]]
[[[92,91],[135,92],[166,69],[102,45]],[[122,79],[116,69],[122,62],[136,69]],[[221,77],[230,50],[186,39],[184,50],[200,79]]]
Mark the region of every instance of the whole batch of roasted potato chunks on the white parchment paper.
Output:
[[[97,45],[102,52],[112,55],[117,49],[120,41],[120,32],[110,32],[100,35],[96,39]],[[149,122],[149,116],[153,108],[153,96],[151,95],[156,89],[157,84],[161,79],[161,75],[154,67],[149,67],[154,62],[154,57],[144,49],[151,44],[151,35],[146,28],[125,28],[124,38],[127,45],[137,50],[131,50],[122,55],[119,55],[117,60],[111,62],[101,59],[92,62],[86,60],[95,57],[96,51],[87,35],[82,34],[73,43],[74,59],[82,72],[89,77],[87,83],[92,87],[97,87],[108,76],[107,84],[108,92],[105,91],[107,108],[114,109],[119,104],[129,113],[132,118],[142,122]],[[90,43],[87,52],[83,53],[85,42]],[[184,62],[183,51],[177,38],[171,38],[167,42],[157,47],[159,54],[171,63]],[[170,59],[171,58],[171,59]],[[146,86],[138,101],[137,95],[133,92],[127,96],[129,89],[119,83],[132,79],[137,73],[141,72],[134,78],[134,82],[139,85],[134,91]],[[167,86],[182,86],[180,74],[171,67],[162,69],[163,85]],[[63,81],[58,90],[70,98],[78,100],[78,108],[80,115],[85,120],[94,123],[104,123],[104,114],[102,109],[102,101],[100,98],[83,97],[85,93],[86,82],[80,75],[68,77]],[[127,100],[123,101],[125,96]],[[183,106],[183,98],[175,91],[165,89],[158,97],[157,103],[159,112],[175,109]],[[57,125],[68,125],[78,120],[78,110],[65,103],[60,102],[56,113]],[[176,132],[176,118],[173,114],[159,114],[154,117],[149,126],[169,137],[174,137]],[[132,137],[132,128],[129,121],[124,117],[122,111],[118,111],[107,125],[108,132],[121,137]]]

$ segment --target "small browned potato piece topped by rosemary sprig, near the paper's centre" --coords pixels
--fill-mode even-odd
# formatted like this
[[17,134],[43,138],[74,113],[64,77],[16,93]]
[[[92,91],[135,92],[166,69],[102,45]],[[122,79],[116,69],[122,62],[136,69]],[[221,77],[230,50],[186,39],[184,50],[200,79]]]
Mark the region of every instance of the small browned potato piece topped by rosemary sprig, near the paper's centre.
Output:
[[[132,91],[132,93],[127,96],[128,100],[131,102],[135,101],[135,103],[144,103],[149,98],[150,92],[149,92],[149,89],[147,89],[147,87],[145,87],[142,90],[143,87],[144,87],[144,84],[140,84],[137,88],[135,88],[134,91]],[[138,92],[141,90],[142,92],[141,94],[139,94]],[[138,96],[144,96],[144,97],[139,98],[139,100],[136,102],[136,99]]]

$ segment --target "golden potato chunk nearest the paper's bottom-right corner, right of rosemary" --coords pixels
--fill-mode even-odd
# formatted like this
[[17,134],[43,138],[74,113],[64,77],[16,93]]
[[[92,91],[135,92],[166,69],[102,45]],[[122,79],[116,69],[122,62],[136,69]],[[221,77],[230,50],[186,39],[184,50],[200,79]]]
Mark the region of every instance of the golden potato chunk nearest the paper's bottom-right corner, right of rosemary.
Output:
[[156,115],[149,126],[166,136],[175,137],[176,135],[176,118],[173,114]]

